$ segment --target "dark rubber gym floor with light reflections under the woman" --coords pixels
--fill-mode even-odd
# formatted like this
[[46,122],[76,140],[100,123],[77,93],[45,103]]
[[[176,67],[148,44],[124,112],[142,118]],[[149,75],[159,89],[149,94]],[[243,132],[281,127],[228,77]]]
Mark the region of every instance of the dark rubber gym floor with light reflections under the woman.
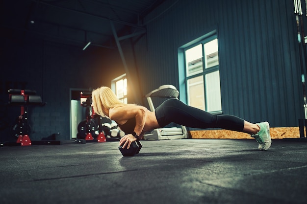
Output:
[[143,141],[0,148],[1,204],[306,204],[307,142]]

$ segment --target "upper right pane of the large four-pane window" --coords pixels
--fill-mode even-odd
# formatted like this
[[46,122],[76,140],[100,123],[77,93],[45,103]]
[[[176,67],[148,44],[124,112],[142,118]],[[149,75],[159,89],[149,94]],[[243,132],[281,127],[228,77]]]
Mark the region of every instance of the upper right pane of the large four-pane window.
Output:
[[204,45],[204,53],[205,53],[205,68],[211,68],[219,65],[217,39],[210,41]]

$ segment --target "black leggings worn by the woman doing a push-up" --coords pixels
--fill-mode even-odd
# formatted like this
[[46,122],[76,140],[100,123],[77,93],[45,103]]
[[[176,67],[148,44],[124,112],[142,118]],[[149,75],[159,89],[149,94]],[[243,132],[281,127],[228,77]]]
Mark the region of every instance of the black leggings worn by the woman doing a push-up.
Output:
[[171,122],[190,128],[223,128],[243,131],[244,120],[233,115],[215,115],[188,106],[178,99],[168,99],[155,109],[160,127]]

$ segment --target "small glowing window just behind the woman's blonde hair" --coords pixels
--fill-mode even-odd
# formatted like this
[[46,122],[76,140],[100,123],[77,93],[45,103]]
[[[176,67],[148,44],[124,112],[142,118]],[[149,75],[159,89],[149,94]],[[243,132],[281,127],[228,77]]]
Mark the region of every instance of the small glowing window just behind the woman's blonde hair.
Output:
[[126,74],[113,79],[111,82],[111,88],[120,101],[126,104],[128,103]]

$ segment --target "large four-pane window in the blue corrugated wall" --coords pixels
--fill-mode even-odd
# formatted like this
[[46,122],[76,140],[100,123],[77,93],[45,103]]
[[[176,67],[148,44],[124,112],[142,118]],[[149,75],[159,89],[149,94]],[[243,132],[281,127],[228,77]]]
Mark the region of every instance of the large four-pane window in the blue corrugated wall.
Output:
[[216,35],[184,47],[183,58],[187,103],[207,112],[221,112],[219,55]]

